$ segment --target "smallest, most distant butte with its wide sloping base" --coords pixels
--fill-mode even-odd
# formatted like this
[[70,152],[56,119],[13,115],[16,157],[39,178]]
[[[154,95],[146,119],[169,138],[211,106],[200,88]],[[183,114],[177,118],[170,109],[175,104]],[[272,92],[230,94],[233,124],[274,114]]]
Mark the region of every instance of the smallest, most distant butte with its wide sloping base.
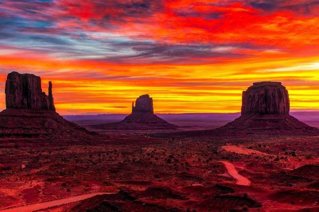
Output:
[[137,98],[132,113],[124,120],[115,123],[91,125],[93,129],[100,130],[165,130],[176,129],[178,126],[168,123],[154,114],[153,99],[148,94]]

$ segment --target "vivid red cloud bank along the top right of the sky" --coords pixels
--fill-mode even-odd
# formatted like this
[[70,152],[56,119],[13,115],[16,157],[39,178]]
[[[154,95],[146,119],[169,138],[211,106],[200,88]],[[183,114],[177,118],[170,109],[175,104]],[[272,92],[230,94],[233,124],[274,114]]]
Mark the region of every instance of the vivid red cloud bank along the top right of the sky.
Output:
[[[231,0],[58,0],[58,26],[166,43],[252,43],[296,49],[318,43],[318,3]],[[254,3],[253,3],[254,2]],[[256,3],[257,2],[257,3]],[[306,5],[306,6],[305,6]],[[315,8],[315,9],[314,9]],[[72,19],[73,18],[73,19]],[[75,18],[75,19],[74,19]],[[76,20],[78,19],[78,20]]]

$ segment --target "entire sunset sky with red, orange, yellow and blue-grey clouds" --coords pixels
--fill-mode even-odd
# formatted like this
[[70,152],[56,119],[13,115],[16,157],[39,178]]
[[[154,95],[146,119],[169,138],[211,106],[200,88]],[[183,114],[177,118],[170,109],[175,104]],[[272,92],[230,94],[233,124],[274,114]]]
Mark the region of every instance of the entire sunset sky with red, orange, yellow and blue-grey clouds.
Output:
[[256,81],[319,109],[319,0],[0,0],[8,72],[53,83],[61,114],[237,112]]

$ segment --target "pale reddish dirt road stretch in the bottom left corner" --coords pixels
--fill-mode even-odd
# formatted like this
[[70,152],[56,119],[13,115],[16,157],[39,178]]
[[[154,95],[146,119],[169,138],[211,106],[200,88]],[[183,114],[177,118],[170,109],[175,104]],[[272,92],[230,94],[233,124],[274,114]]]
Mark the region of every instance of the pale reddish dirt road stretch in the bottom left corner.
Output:
[[21,207],[16,207],[16,208],[11,208],[11,209],[4,209],[0,210],[0,212],[34,212],[34,211],[39,211],[47,208],[51,208],[54,206],[60,206],[68,203],[73,203],[73,202],[78,202],[81,200],[88,199],[90,197],[100,195],[100,194],[114,194],[114,193],[91,193],[91,194],[82,194],[79,196],[73,196],[73,197],[66,197],[60,200],[52,200],[44,203],[36,203],[32,205],[27,205],[27,206],[21,206]]

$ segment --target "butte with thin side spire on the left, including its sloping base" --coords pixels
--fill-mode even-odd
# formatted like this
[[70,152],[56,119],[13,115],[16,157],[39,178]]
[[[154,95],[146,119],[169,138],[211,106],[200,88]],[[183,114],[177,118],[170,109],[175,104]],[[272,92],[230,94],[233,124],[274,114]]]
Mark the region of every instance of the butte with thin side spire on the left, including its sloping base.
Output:
[[30,145],[36,141],[83,143],[99,137],[55,112],[52,83],[49,82],[46,95],[41,88],[41,78],[34,74],[15,71],[8,74],[5,105],[6,109],[0,112],[0,146],[13,144],[13,141],[25,145],[27,140]]

